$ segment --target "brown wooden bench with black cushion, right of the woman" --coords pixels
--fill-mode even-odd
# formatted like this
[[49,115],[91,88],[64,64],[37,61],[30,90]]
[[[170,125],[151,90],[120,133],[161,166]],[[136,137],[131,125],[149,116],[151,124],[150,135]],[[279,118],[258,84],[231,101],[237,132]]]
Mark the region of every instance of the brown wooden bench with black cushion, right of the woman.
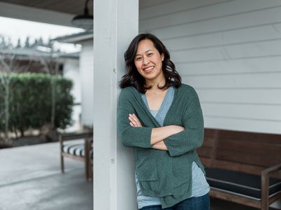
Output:
[[281,198],[281,135],[205,129],[210,196],[267,210]]

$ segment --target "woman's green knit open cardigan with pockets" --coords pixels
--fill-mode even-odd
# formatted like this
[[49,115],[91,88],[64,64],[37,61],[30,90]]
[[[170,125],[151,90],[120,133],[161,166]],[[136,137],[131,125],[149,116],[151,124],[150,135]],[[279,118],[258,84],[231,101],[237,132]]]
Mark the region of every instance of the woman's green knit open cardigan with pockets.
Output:
[[[131,127],[129,113],[135,113],[143,127]],[[169,151],[155,150],[150,137],[152,128],[160,125],[136,88],[122,90],[117,111],[119,139],[124,146],[135,149],[136,174],[143,195],[161,197],[162,208],[190,197],[192,162],[204,171],[195,151],[204,137],[202,110],[197,93],[189,85],[175,88],[174,100],[164,119],[163,126],[166,125],[180,125],[185,130],[164,139]]]

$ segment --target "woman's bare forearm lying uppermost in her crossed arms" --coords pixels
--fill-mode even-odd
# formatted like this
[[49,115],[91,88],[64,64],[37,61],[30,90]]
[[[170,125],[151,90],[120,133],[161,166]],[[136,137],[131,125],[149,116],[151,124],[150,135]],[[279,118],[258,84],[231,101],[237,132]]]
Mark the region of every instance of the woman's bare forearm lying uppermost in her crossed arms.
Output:
[[167,125],[164,127],[152,128],[150,144],[157,144],[158,142],[163,141],[164,139],[171,137],[174,134],[182,132],[183,130],[184,127],[178,125]]

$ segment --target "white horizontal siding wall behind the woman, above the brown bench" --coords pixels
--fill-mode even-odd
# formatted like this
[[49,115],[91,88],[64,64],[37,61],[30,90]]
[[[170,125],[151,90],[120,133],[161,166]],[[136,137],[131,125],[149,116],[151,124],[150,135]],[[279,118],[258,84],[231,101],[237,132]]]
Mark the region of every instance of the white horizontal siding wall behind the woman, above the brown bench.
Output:
[[281,134],[280,0],[141,0],[139,20],[197,90],[205,127]]

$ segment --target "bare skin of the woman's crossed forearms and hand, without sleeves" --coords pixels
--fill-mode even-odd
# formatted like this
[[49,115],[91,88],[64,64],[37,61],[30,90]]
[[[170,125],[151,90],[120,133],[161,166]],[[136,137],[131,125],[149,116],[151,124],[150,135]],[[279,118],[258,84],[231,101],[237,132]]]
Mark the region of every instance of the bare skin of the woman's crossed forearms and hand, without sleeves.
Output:
[[[140,120],[138,120],[134,113],[129,114],[129,120],[131,127],[143,127]],[[157,150],[168,151],[168,148],[164,143],[164,139],[171,137],[174,134],[178,134],[183,130],[185,130],[185,128],[178,125],[168,125],[164,127],[152,128],[150,144],[152,145],[152,148],[155,148]]]

